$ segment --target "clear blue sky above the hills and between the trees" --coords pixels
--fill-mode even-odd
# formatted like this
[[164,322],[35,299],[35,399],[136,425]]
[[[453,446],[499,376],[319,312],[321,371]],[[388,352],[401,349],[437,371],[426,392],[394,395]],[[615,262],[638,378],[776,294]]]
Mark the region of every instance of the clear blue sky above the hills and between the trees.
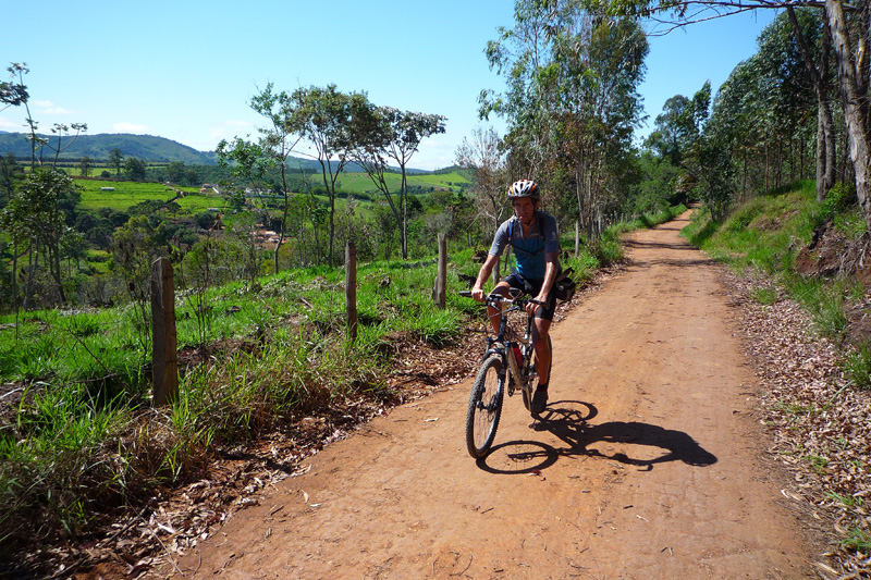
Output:
[[[670,97],[714,90],[756,51],[772,11],[729,16],[650,39],[640,87],[653,119]],[[513,23],[513,2],[248,0],[209,3],[8,2],[0,64],[26,62],[34,119],[82,122],[88,134],[168,137],[199,150],[254,134],[247,102],[258,87],[323,86],[366,91],[377,104],[439,113],[444,135],[421,145],[412,165],[454,162],[476,125],[490,72],[486,42]],[[0,111],[0,131],[24,131],[24,111]],[[500,128],[496,123],[496,128]]]

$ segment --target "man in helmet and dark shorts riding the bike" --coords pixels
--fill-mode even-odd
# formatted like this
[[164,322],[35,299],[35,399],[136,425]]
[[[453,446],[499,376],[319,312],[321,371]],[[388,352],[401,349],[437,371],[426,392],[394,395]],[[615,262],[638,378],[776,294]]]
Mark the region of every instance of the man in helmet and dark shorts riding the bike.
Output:
[[[540,414],[548,405],[548,382],[550,381],[551,349],[548,341],[556,298],[551,288],[560,273],[560,236],[556,232],[556,220],[552,215],[538,210],[540,189],[536,182],[520,180],[508,187],[508,200],[514,209],[514,217],[506,220],[496,230],[493,244],[490,246],[487,260],[478,272],[478,279],[471,288],[471,297],[484,301],[483,285],[490,277],[499,256],[506,246],[512,246],[517,258],[514,273],[503,277],[493,288],[492,294],[508,295],[508,288],[517,288],[533,296],[538,305],[529,303],[527,312],[535,316],[532,326],[532,346],[536,349],[536,368],[538,369],[538,387],[532,395],[532,414]],[[488,314],[493,329],[499,332],[500,311],[488,307]]]

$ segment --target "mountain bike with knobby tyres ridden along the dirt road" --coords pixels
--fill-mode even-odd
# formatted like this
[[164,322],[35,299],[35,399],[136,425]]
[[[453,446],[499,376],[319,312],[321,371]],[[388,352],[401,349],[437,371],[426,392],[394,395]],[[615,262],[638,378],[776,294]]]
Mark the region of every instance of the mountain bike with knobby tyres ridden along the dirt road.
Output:
[[[498,310],[493,316],[501,316],[501,319],[496,336],[487,336],[487,350],[471,385],[469,408],[466,412],[466,448],[476,459],[490,453],[502,416],[505,393],[513,396],[519,390],[524,406],[529,410],[532,387],[538,377],[532,348],[533,317],[526,312],[526,305],[543,303],[524,298],[519,296],[519,291],[512,292],[510,297],[490,295],[486,300],[487,306]],[[459,295],[471,297],[471,292],[461,292]],[[550,345],[550,336],[548,344]]]

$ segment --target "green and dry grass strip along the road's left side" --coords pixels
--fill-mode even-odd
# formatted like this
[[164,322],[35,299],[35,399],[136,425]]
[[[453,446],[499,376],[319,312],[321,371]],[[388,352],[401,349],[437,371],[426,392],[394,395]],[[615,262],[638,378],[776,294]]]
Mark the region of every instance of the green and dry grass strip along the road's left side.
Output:
[[[622,258],[623,232],[679,211],[618,224],[564,266],[584,282]],[[161,409],[150,407],[150,338],[134,305],[0,317],[0,380],[15,386],[0,408],[0,552],[69,538],[107,511],[203,477],[221,447],[345,399],[390,397],[391,336],[438,348],[480,316],[458,296],[457,274],[479,268],[471,254],[451,254],[444,310],[432,300],[434,259],[360,264],[354,344],[341,269],[235,282],[199,300],[179,292],[180,397]]]

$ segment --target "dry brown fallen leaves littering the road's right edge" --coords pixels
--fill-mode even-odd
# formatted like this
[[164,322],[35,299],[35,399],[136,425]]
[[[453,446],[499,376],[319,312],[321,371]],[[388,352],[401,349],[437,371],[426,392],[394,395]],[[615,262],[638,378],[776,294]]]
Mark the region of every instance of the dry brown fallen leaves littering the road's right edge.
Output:
[[[844,539],[847,528],[869,531],[871,519],[861,498],[871,493],[871,397],[847,384],[838,349],[811,333],[800,306],[781,298],[761,305],[751,289],[772,287],[761,276],[725,274],[733,306],[756,362],[758,396],[773,437],[771,453],[794,474],[795,486],[784,497],[801,502],[824,518]],[[838,520],[842,532],[837,532]],[[834,577],[871,576],[868,554],[841,547],[830,554],[841,567]],[[818,566],[821,566],[818,564]]]

